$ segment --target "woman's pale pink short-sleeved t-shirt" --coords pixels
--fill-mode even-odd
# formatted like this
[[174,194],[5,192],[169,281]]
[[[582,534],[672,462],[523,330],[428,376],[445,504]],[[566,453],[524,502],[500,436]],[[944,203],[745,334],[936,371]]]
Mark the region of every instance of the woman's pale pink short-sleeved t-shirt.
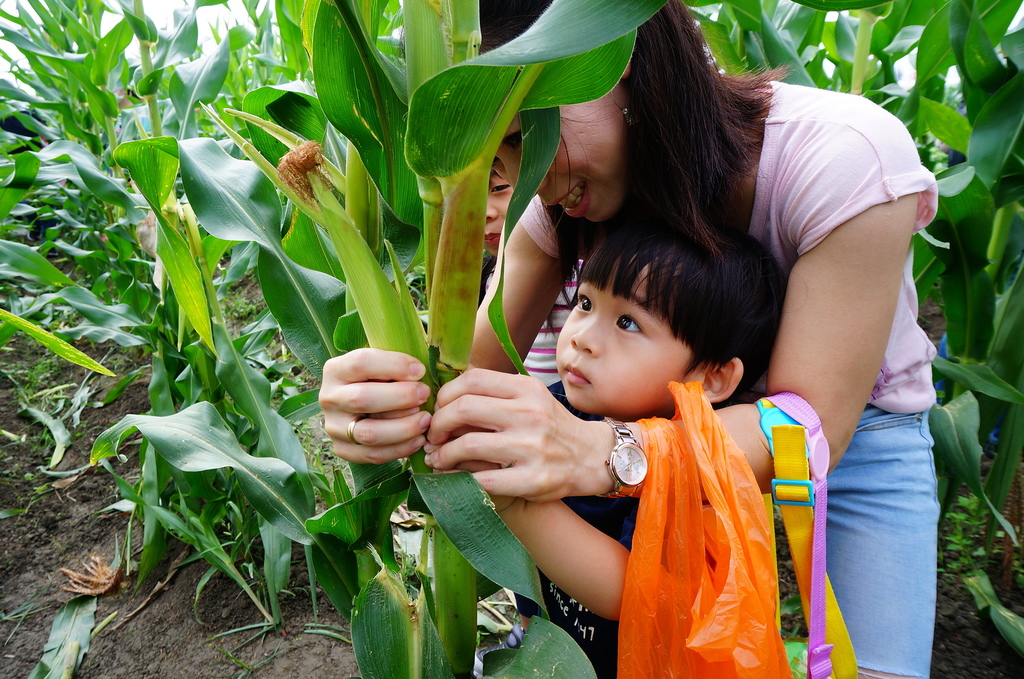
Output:
[[[896,117],[859,96],[772,83],[750,234],[786,275],[800,255],[837,226],[910,194],[919,194],[920,230],[935,216],[938,190]],[[522,226],[557,257],[554,229],[539,201]],[[918,326],[911,263],[908,253],[889,345],[869,399],[891,413],[918,413],[935,402],[935,347]]]

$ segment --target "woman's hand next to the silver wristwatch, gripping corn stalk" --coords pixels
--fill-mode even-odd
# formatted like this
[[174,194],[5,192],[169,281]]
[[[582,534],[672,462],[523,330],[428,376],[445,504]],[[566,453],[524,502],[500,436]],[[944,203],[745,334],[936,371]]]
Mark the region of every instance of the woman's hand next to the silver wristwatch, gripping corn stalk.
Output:
[[428,465],[473,471],[492,495],[547,502],[611,491],[611,428],[575,417],[531,377],[467,371],[438,392],[428,438]]

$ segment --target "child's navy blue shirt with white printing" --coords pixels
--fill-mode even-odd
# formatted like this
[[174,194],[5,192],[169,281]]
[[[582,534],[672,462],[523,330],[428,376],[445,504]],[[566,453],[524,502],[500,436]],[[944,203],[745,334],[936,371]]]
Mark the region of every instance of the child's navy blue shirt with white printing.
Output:
[[[587,421],[604,419],[572,408],[565,397],[565,389],[561,382],[552,384],[548,390],[580,419]],[[640,501],[636,498],[612,500],[581,497],[565,498],[562,502],[595,528],[617,540],[626,549],[633,548],[633,529],[636,527],[637,508],[640,505]],[[614,679],[618,662],[618,622],[591,612],[589,608],[548,580],[543,572],[541,591],[544,593],[544,603],[551,622],[575,639],[594,666],[598,679]],[[516,604],[520,616],[541,614],[540,606],[525,597],[516,595]]]

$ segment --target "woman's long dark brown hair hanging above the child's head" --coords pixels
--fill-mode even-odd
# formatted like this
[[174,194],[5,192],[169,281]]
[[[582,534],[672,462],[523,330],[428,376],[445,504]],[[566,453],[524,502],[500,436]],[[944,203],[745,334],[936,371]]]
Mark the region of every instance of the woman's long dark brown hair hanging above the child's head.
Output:
[[[551,0],[481,0],[482,49],[524,32]],[[778,74],[719,73],[686,6],[670,0],[637,30],[628,79],[632,209],[655,214],[713,254],[729,219],[730,199],[755,167]],[[632,213],[632,214],[631,214]],[[594,227],[551,209],[563,268],[590,247]],[[612,224],[609,224],[609,226]]]

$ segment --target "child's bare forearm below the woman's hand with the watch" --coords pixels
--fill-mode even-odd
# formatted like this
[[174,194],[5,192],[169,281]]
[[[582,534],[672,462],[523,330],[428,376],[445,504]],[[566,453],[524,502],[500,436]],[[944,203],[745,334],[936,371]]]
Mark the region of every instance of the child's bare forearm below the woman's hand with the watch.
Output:
[[564,503],[493,498],[509,529],[551,582],[601,618],[618,620],[630,552]]

